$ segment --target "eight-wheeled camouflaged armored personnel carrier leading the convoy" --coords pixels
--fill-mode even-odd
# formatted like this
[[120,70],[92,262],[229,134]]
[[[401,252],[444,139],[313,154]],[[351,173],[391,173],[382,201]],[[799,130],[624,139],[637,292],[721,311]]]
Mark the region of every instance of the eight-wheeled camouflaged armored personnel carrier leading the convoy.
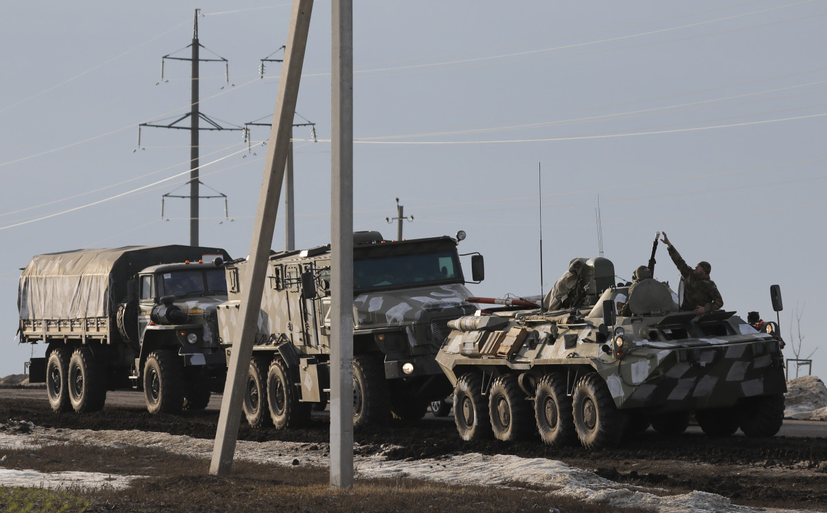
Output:
[[[581,259],[575,304],[501,307],[464,316],[437,362],[454,385],[462,439],[619,444],[648,429],[769,437],[781,428],[786,381],[777,323],[758,332],[734,311],[681,311],[668,283],[614,283],[609,259]],[[573,260],[572,260],[573,262]],[[781,292],[771,287],[773,308]],[[621,303],[631,314],[618,316]]]

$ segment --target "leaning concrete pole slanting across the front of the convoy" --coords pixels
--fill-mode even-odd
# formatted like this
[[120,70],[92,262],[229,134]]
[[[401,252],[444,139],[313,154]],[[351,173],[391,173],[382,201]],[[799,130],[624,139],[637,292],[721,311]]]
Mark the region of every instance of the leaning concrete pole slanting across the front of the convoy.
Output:
[[[287,164],[293,113],[299,97],[299,82],[312,10],[313,0],[294,0],[293,2],[287,50],[284,52],[283,71],[275,101],[270,144],[267,145],[264,178],[261,183],[256,224],[252,234],[250,263],[248,264],[250,268],[247,270],[244,282],[241,283],[241,337],[240,340],[232,341],[227,383],[224,386],[213,459],[210,463],[210,473],[213,475],[230,473],[232,458],[236,451],[241,403],[244,401],[247,374],[256,336],[256,321],[261,311],[261,294],[264,292],[267,260],[270,257],[270,246],[273,243],[275,216],[279,209],[279,197],[284,181],[284,167]],[[352,299],[351,287],[351,301]]]

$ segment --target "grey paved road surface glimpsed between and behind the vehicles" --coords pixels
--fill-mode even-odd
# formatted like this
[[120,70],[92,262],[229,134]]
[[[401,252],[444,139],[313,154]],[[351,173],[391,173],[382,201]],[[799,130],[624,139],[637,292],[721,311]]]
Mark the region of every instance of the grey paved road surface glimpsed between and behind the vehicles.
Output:
[[[46,392],[42,388],[25,389],[25,388],[0,388],[0,398],[9,397],[15,399],[32,399],[38,401],[46,401]],[[222,394],[213,394],[210,397],[207,410],[221,410]],[[143,392],[136,390],[118,390],[115,392],[107,392],[107,404],[115,406],[145,406]],[[321,413],[321,412],[320,412]],[[326,413],[326,412],[325,412]],[[431,416],[430,413],[427,414]],[[438,417],[445,421],[453,422],[453,416]],[[700,433],[700,427],[696,425],[689,426],[688,432]],[[795,438],[818,437],[827,438],[827,422],[817,420],[784,420],[779,436],[791,436]]]

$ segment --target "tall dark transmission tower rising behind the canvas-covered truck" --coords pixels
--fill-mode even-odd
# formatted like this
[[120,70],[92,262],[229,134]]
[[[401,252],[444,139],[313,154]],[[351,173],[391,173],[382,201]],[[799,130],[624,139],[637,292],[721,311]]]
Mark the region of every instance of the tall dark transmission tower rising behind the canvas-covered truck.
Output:
[[[164,55],[161,57],[161,64],[160,64],[160,78],[161,80],[164,79],[164,63],[165,59],[172,59],[172,60],[189,60],[192,62],[192,97],[190,98],[190,110],[188,114],[184,114],[184,116],[179,116],[174,121],[168,124],[159,124],[159,123],[141,123],[138,126],[138,145],[141,145],[141,126],[155,126],[157,128],[175,128],[178,130],[189,130],[189,245],[197,246],[198,245],[198,200],[201,198],[198,193],[198,185],[201,184],[201,181],[198,179],[198,132],[202,130],[208,131],[218,131],[218,130],[228,130],[228,131],[241,131],[243,130],[240,126],[237,127],[225,127],[221,126],[217,121],[213,121],[207,115],[199,112],[198,110],[198,80],[199,80],[199,69],[198,64],[202,62],[223,62],[226,66],[227,71],[225,72],[227,76],[227,83],[229,83],[229,62],[227,59],[223,57],[218,57],[218,59],[201,59],[198,56],[198,50],[201,48],[205,48],[198,42],[198,12],[201,9],[195,9],[195,21],[193,27],[193,41],[190,43],[189,46],[186,48],[190,48],[192,50],[192,55],[190,57],[174,57],[172,54]],[[184,121],[184,119],[189,117],[189,126],[177,126],[179,121]],[[198,126],[198,121],[203,120],[208,123],[209,126],[201,127]],[[219,193],[220,194],[220,193]],[[166,195],[165,195],[166,196]],[[223,197],[226,196],[222,194]],[[187,197],[187,196],[170,196],[170,197]],[[214,197],[214,196],[208,196]],[[204,197],[204,198],[208,198]],[[163,201],[163,200],[162,200]],[[226,205],[225,205],[226,210]]]

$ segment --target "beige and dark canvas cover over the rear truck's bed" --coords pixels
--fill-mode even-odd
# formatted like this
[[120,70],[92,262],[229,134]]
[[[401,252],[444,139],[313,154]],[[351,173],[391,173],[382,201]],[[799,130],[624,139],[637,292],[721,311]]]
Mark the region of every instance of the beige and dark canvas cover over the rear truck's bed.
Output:
[[220,248],[185,245],[74,249],[38,254],[23,270],[17,295],[22,320],[107,317],[127,296],[127,280],[143,268],[230,257]]

